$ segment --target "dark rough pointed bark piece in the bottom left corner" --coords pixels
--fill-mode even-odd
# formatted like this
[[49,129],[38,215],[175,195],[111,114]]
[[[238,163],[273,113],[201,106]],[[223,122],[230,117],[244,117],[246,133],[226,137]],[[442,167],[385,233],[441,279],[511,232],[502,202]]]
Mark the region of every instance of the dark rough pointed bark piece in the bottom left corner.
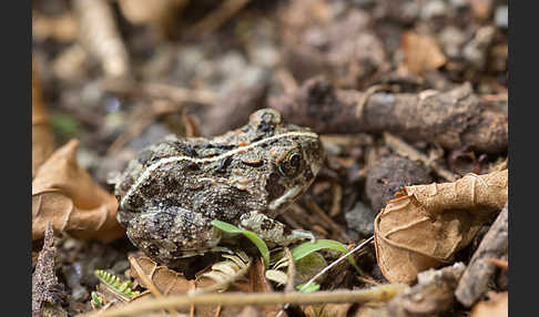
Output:
[[58,305],[65,298],[63,285],[54,275],[54,234],[49,223],[44,233],[43,248],[39,253],[32,274],[32,317],[41,316],[43,304]]

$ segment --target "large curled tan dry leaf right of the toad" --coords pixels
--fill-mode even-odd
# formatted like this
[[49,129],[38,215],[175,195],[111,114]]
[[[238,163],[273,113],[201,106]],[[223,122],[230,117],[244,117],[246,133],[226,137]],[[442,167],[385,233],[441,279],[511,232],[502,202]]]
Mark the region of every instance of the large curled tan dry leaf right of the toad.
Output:
[[375,219],[378,265],[391,283],[450,263],[508,196],[508,171],[466,175],[454,183],[406,186]]

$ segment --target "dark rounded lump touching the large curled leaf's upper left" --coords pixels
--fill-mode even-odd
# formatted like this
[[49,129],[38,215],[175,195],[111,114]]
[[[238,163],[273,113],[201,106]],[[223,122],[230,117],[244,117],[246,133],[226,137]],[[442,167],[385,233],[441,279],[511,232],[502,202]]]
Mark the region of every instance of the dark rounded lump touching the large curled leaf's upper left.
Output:
[[400,156],[384,157],[367,175],[366,193],[377,213],[403,186],[433,182],[425,165]]

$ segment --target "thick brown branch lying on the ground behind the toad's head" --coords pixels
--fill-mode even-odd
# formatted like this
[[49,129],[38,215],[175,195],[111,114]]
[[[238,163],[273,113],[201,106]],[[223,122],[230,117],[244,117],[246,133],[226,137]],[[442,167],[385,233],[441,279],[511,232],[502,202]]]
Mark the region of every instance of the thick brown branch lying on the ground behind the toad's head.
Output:
[[387,131],[407,141],[428,141],[450,150],[507,150],[507,115],[487,110],[469,83],[447,92],[374,93],[367,98],[360,115],[356,115],[365,93],[337,90],[317,76],[294,93],[270,100],[270,106],[292,123],[311,126],[318,133]]

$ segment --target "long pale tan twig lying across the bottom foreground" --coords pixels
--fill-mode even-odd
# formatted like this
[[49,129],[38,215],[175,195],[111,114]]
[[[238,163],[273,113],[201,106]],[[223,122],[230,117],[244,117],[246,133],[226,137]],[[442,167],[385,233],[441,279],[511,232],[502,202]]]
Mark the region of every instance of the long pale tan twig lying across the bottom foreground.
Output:
[[162,309],[169,306],[176,308],[190,305],[277,305],[289,304],[319,304],[319,303],[366,303],[385,301],[400,294],[407,288],[403,284],[386,284],[362,290],[332,290],[303,294],[294,293],[252,293],[241,292],[222,294],[176,295],[162,298],[134,301],[129,305],[110,308],[106,311],[92,311],[79,317],[118,317],[135,316],[136,314]]

